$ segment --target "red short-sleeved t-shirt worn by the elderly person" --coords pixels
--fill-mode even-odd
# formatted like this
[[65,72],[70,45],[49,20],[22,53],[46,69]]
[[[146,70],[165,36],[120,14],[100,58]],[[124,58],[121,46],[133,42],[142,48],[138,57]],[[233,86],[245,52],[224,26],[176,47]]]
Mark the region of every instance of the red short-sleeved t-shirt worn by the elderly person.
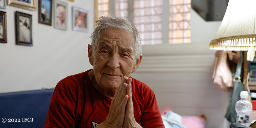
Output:
[[[88,71],[56,85],[44,128],[94,128],[106,119],[112,99],[99,93]],[[137,123],[144,128],[164,128],[154,92],[136,79],[132,79],[132,101]]]

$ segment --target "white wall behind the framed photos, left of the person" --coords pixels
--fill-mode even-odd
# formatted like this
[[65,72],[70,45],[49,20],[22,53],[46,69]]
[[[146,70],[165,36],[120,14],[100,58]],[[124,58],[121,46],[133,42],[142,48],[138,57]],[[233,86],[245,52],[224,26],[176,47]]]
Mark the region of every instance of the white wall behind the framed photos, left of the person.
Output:
[[[38,9],[29,11],[13,6],[1,9],[7,12],[8,43],[0,43],[0,93],[53,88],[64,77],[92,68],[87,44],[94,29],[94,0],[59,1],[68,3],[67,31],[39,24]],[[72,6],[89,10],[88,33],[72,30]],[[15,11],[32,15],[33,46],[15,44]]]

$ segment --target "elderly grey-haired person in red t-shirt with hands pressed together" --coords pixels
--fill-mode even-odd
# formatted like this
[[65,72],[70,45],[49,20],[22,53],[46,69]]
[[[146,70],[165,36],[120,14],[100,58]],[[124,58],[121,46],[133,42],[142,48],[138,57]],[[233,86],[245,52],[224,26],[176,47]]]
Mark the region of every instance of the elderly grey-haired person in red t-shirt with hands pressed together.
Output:
[[154,92],[130,74],[142,59],[137,29],[100,17],[88,45],[93,69],[55,87],[44,128],[164,128]]

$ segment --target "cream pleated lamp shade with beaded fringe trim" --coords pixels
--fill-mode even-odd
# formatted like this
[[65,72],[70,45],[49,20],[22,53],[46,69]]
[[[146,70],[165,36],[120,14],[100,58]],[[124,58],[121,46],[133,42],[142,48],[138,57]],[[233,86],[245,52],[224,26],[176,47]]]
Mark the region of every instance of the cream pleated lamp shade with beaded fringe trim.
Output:
[[210,49],[224,51],[256,50],[256,0],[229,0],[221,25]]

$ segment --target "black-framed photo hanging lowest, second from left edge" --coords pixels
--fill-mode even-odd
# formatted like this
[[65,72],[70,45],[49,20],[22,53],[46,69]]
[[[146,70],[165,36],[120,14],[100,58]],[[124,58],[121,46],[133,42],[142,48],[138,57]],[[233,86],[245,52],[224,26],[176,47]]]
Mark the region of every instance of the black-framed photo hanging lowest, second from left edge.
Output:
[[16,11],[16,44],[32,46],[32,15]]

